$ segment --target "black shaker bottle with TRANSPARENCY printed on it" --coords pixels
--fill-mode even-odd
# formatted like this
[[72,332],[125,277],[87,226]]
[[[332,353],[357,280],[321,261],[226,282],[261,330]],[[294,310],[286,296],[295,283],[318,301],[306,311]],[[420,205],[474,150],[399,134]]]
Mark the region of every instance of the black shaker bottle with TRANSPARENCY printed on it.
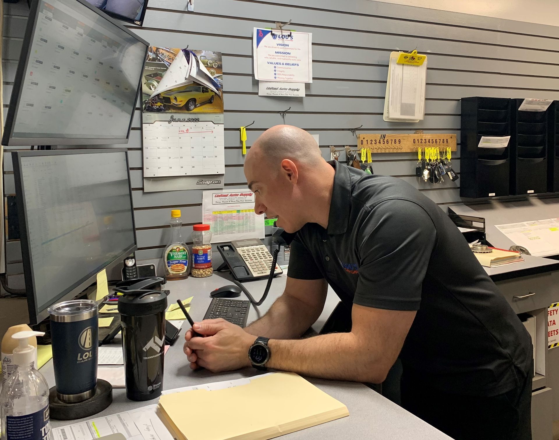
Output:
[[151,289],[125,290],[119,298],[126,396],[151,400],[163,390],[167,295]]

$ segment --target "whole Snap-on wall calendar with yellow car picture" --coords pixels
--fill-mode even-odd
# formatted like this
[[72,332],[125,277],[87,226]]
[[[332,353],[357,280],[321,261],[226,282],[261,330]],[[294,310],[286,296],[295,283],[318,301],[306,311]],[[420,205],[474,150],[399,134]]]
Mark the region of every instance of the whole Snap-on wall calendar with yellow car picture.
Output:
[[[201,175],[222,186],[221,53],[150,46],[142,84],[144,190],[208,188]],[[162,177],[174,179],[149,179]]]

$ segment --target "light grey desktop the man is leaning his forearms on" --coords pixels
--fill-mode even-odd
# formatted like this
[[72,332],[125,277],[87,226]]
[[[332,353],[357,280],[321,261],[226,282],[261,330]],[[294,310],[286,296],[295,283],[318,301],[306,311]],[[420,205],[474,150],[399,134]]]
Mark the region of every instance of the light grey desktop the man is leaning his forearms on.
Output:
[[[259,314],[265,313],[272,305],[274,300],[281,295],[285,288],[286,277],[279,276],[274,279],[268,298],[258,308],[250,306],[249,322],[258,318]],[[192,300],[191,315],[195,321],[200,321],[210,304],[210,291],[217,287],[231,284],[229,280],[221,278],[220,274],[205,279],[188,278],[181,281],[170,281],[165,285],[170,290],[169,303],[176,302],[177,299],[185,299],[194,296]],[[259,299],[260,292],[266,286],[266,281],[253,281],[247,283],[247,288]],[[243,299],[241,295],[239,299]],[[319,330],[324,324],[325,319],[338,303],[337,296],[329,290],[328,299],[324,312],[313,328]],[[209,371],[192,371],[188,367],[186,356],[182,352],[182,341],[184,332],[188,327],[188,322],[184,321],[181,335],[177,342],[169,348],[165,355],[165,373],[163,388],[170,390],[182,386],[191,386],[216,382],[222,380],[240,379],[259,374],[254,369],[243,369],[222,374],[212,374]],[[119,341],[119,339],[115,339]],[[41,373],[49,382],[49,386],[54,386],[54,371],[52,360],[41,368]],[[450,437],[423,422],[415,415],[400,408],[367,386],[356,382],[329,381],[322,379],[309,380],[318,388],[325,391],[344,403],[349,409],[349,417],[334,420],[316,427],[305,429],[304,431],[287,434],[285,438],[297,439],[323,439],[323,438],[354,438],[354,439],[378,439],[378,440],[400,440],[402,438],[413,438],[414,440],[449,440]],[[115,414],[126,410],[140,408],[141,406],[157,403],[157,399],[147,402],[135,402],[126,399],[124,389],[113,390],[113,403],[105,411],[94,417]],[[188,409],[185,408],[185,415]],[[74,423],[74,421],[51,420],[53,428]]]

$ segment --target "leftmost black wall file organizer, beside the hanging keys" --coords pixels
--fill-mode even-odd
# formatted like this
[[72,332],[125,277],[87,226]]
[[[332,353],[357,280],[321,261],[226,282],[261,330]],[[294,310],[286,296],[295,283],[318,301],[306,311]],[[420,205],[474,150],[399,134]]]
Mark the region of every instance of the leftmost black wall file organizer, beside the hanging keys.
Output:
[[461,106],[460,197],[509,195],[510,147],[478,144],[482,136],[510,135],[510,99],[462,98]]

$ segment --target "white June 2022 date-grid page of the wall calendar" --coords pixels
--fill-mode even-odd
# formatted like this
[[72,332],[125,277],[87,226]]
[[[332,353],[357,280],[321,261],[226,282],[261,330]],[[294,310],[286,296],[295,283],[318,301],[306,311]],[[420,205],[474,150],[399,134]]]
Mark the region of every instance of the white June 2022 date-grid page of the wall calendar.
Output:
[[225,173],[223,124],[144,124],[144,177]]

